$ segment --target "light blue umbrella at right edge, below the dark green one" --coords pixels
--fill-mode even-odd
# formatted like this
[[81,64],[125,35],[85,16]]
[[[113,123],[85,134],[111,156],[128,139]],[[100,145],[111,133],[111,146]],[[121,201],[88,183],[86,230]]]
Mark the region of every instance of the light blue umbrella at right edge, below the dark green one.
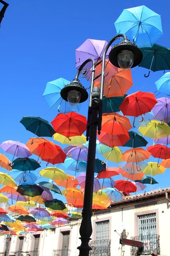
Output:
[[165,73],[155,84],[160,93],[170,96],[170,72]]

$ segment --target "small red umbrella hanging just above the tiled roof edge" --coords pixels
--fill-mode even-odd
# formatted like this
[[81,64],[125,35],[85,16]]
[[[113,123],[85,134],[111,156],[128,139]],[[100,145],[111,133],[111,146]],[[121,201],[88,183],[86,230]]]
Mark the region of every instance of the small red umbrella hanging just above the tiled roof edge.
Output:
[[136,192],[137,187],[129,180],[116,180],[116,186],[114,186],[119,191],[127,193]]

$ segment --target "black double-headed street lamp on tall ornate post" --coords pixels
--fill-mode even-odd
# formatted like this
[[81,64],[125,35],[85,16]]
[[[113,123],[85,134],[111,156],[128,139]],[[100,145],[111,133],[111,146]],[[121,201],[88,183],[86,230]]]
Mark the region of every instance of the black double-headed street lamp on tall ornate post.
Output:
[[[77,105],[79,102],[84,102],[88,98],[88,93],[85,87],[79,82],[79,74],[83,70],[83,67],[88,62],[92,62],[91,68],[91,90],[90,90],[90,99],[89,99],[89,107],[88,107],[88,124],[86,137],[87,140],[89,138],[88,145],[88,160],[87,160],[87,169],[86,169],[86,180],[85,180],[85,196],[84,196],[84,204],[82,210],[82,223],[80,226],[80,239],[81,245],[77,248],[79,249],[79,256],[89,256],[89,251],[91,247],[88,245],[91,240],[92,234],[92,225],[91,225],[91,216],[92,216],[92,201],[93,201],[93,187],[94,187],[94,165],[95,165],[95,155],[96,155],[96,135],[97,129],[98,134],[101,131],[102,125],[102,101],[103,101],[103,90],[104,90],[104,78],[105,78],[105,58],[106,52],[109,47],[118,38],[123,38],[122,42],[119,44],[115,44],[111,52],[109,53],[109,60],[111,63],[120,67],[123,70],[128,70],[131,67],[136,67],[142,61],[142,52],[141,50],[134,44],[131,43],[126,35],[118,34],[111,39],[111,41],[106,46],[102,61],[99,61],[95,64],[94,59],[87,59],[82,65],[79,67],[77,71],[75,79],[67,84],[61,90],[61,96],[63,99],[68,101],[72,106]],[[95,81],[95,67],[102,62],[102,72],[96,78],[101,76],[101,86],[94,87]],[[85,70],[83,70],[85,72]]]

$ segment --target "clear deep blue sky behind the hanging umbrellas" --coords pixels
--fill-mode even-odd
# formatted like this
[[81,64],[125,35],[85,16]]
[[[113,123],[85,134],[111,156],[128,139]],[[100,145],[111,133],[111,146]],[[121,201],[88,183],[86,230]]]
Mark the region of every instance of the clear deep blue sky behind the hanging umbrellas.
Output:
[[[76,73],[74,50],[87,38],[109,41],[116,34],[113,23],[123,9],[134,4],[145,5],[161,15],[164,35],[156,43],[170,48],[169,0],[134,0],[134,4],[132,0],[8,0],[8,3],[0,28],[0,143],[5,140],[26,143],[32,137],[20,119],[43,116],[48,111],[42,97],[46,83],[60,77],[71,81]],[[144,78],[146,72],[139,67],[132,70],[134,86],[129,93],[143,86],[143,91],[155,91],[154,82],[163,72],[151,72],[149,78]],[[82,83],[87,84],[84,80]],[[81,113],[87,116],[85,105]],[[56,115],[57,112],[50,110],[44,118],[51,122]],[[156,180],[159,184],[153,188],[170,186],[169,170],[156,176]]]

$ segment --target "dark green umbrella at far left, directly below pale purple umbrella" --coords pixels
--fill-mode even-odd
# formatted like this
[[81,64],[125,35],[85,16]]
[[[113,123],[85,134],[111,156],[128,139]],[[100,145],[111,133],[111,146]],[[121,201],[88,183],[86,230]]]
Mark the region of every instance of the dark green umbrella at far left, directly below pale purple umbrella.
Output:
[[[11,166],[11,163],[9,164],[9,166]],[[35,171],[41,166],[33,158],[18,157],[13,161],[13,164],[11,167],[12,169],[16,169],[20,171]]]

